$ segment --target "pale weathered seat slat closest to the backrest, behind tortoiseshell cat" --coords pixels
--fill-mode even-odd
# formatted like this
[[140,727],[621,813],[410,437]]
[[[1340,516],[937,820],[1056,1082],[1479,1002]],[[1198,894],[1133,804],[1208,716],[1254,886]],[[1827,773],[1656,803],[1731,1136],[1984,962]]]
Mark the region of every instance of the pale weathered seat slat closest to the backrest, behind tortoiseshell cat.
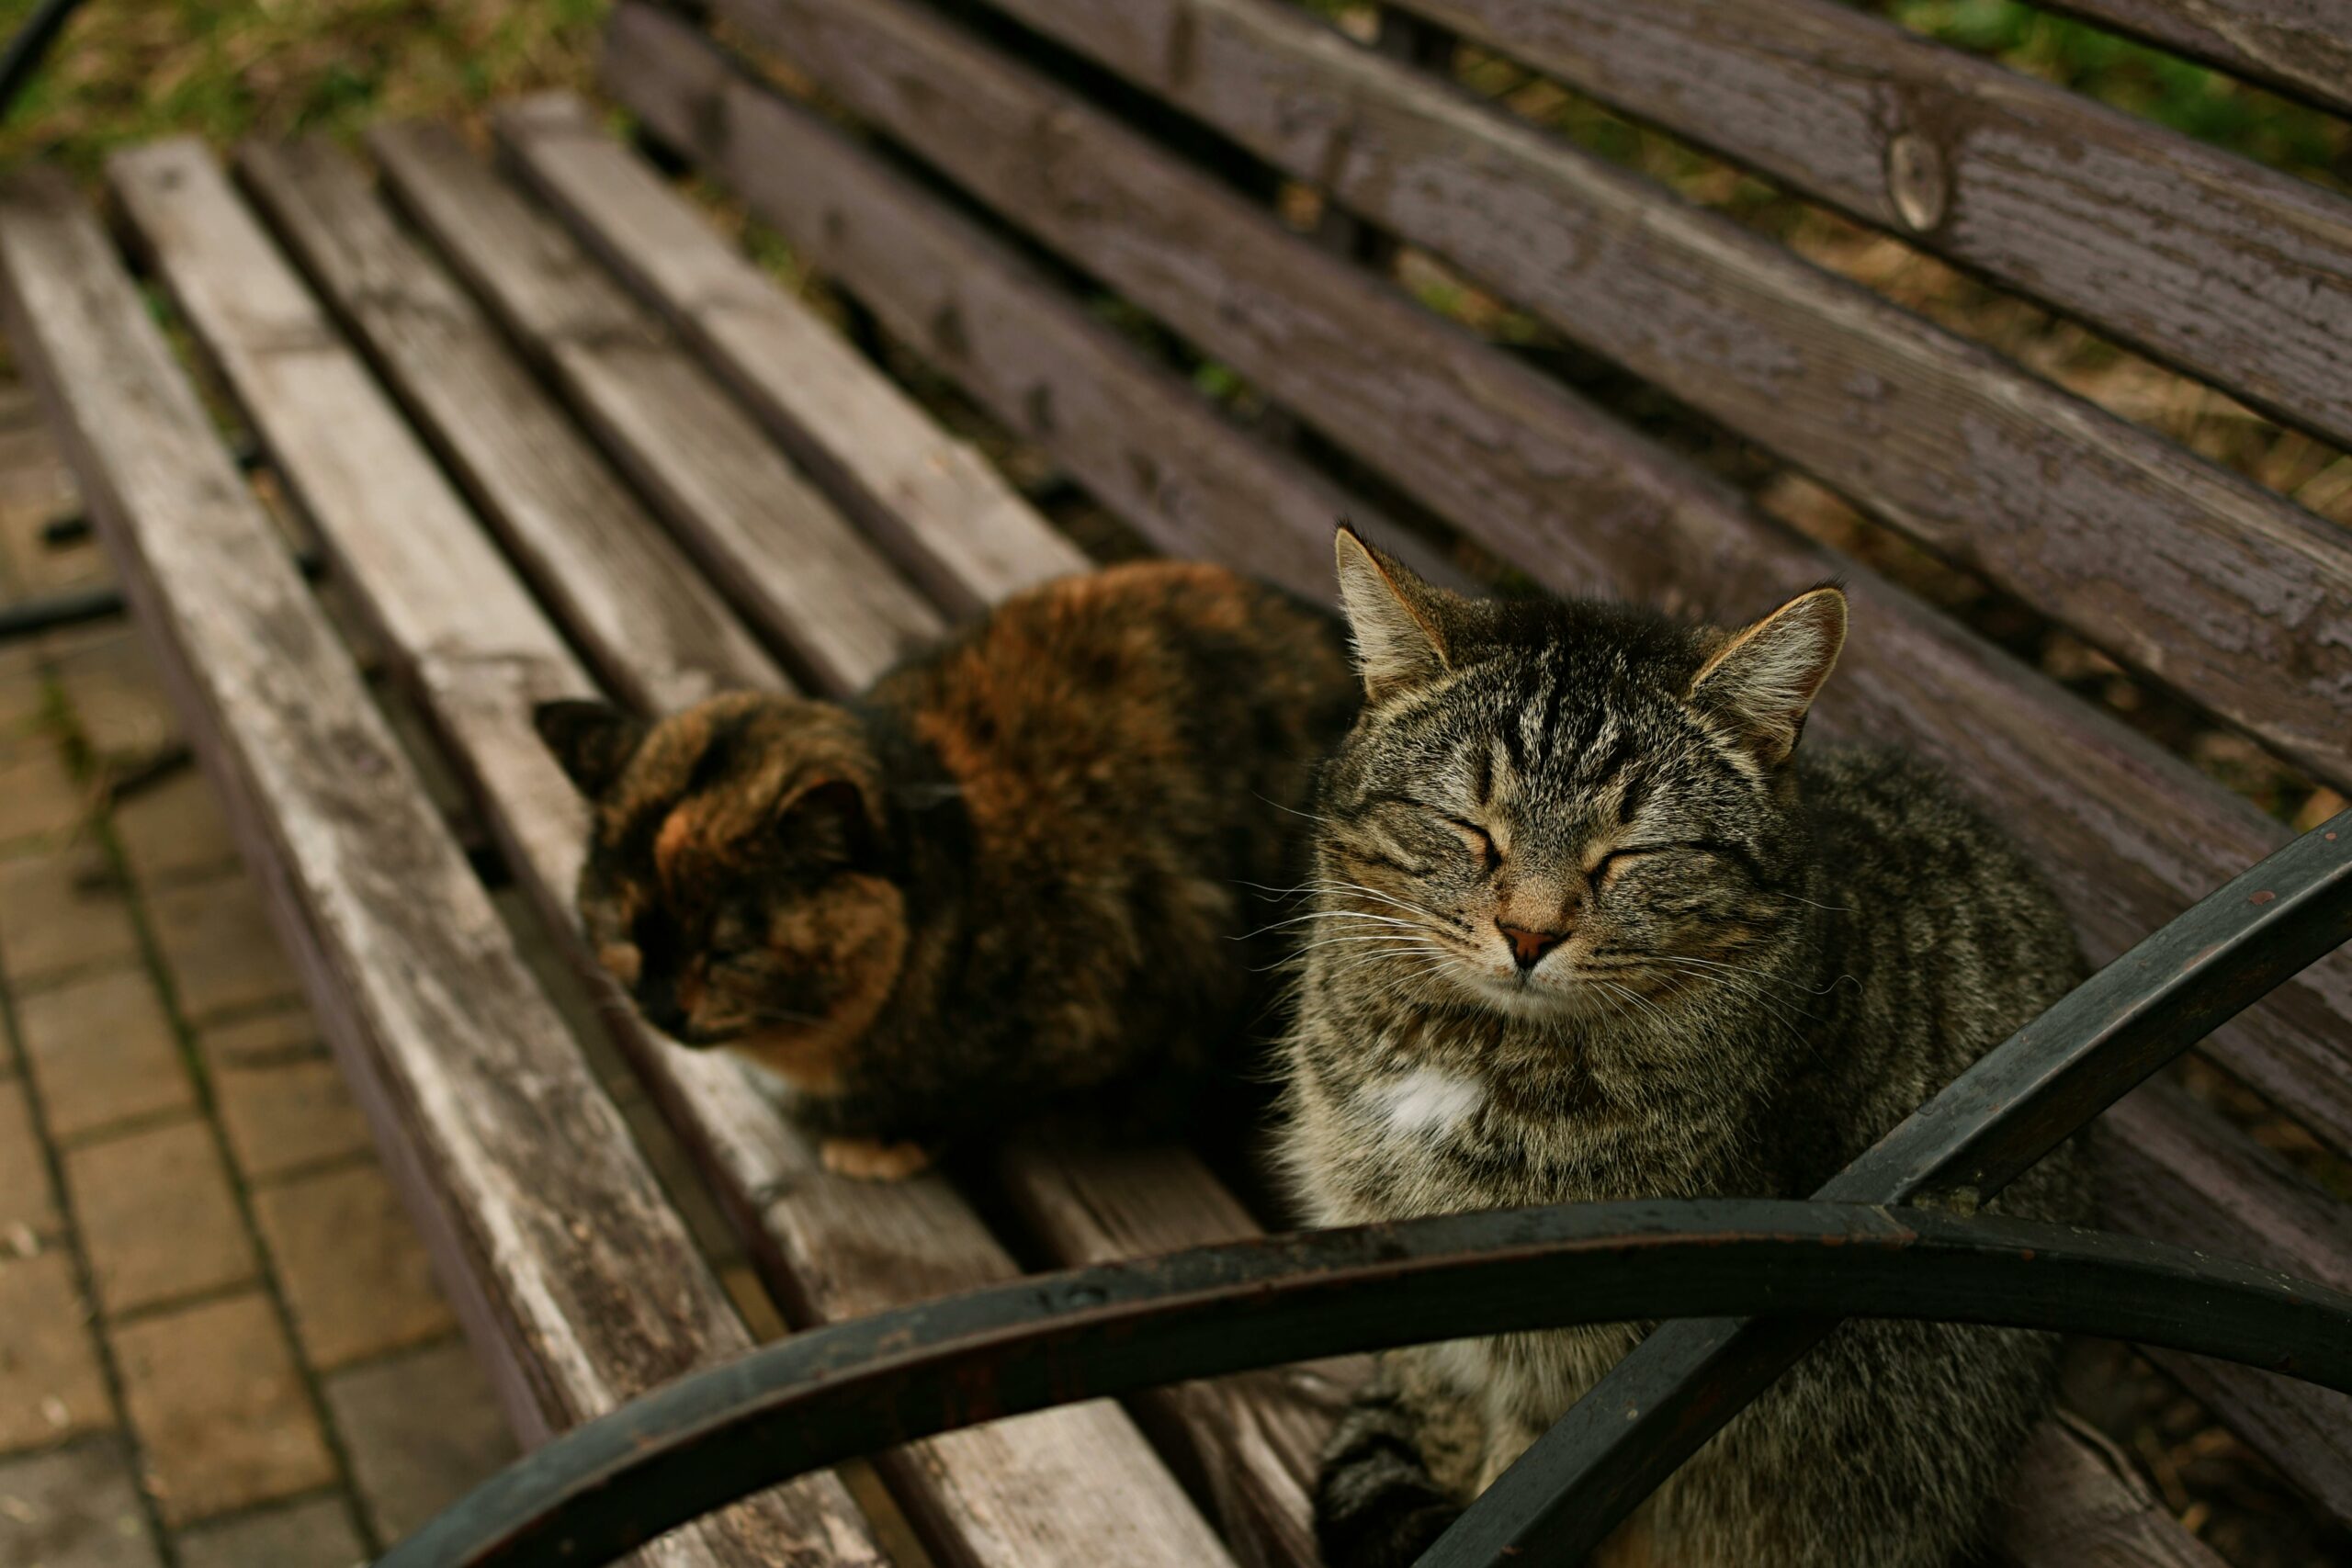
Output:
[[724,244],[579,99],[506,103],[494,125],[522,181],[950,614],[1089,567],[995,468]]

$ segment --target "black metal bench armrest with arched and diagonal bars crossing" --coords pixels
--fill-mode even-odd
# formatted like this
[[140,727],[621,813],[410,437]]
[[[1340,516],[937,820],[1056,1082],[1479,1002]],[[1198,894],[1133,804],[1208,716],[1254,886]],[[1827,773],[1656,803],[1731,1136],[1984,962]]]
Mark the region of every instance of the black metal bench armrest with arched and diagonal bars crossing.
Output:
[[983,1420],[1592,1321],[1677,1319],[1498,1479],[1423,1568],[1581,1561],[1842,1316],[2096,1333],[2352,1392],[2352,1295],[1976,1213],[2347,938],[2352,811],[2098,971],[1811,1201],[1562,1204],[1301,1232],[835,1324],[576,1427],[379,1568],[581,1568],[776,1481]]

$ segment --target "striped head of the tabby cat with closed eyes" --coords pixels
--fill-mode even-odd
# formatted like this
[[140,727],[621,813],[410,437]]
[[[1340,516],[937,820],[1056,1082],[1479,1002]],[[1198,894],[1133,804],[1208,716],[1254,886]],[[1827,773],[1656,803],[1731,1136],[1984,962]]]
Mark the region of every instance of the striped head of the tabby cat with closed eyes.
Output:
[[1790,755],[1837,588],[1724,632],[1465,599],[1345,529],[1338,578],[1369,703],[1324,773],[1327,973],[1522,1018],[1769,1001],[1759,964],[1811,907]]

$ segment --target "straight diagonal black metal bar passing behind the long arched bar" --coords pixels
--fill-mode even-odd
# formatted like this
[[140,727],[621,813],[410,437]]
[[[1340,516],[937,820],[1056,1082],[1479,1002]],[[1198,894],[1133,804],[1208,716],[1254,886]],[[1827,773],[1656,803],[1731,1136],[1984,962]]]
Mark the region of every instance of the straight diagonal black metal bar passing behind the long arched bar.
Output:
[[[2352,811],[2286,844],[1990,1051],[1816,1197],[1990,1199],[2274,985],[2352,938]],[[1825,1333],[1686,1316],[1616,1363],[1421,1556],[1571,1568]],[[2117,1335],[2129,1338],[2129,1335]]]

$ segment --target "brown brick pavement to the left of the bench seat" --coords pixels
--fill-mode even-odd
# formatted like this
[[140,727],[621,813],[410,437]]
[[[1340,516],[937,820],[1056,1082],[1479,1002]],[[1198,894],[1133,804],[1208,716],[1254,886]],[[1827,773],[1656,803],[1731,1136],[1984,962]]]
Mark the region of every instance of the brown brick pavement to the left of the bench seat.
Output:
[[[0,602],[106,581],[68,505],[0,388]],[[513,1455],[181,757],[125,623],[0,642],[0,1568],[341,1568]]]

